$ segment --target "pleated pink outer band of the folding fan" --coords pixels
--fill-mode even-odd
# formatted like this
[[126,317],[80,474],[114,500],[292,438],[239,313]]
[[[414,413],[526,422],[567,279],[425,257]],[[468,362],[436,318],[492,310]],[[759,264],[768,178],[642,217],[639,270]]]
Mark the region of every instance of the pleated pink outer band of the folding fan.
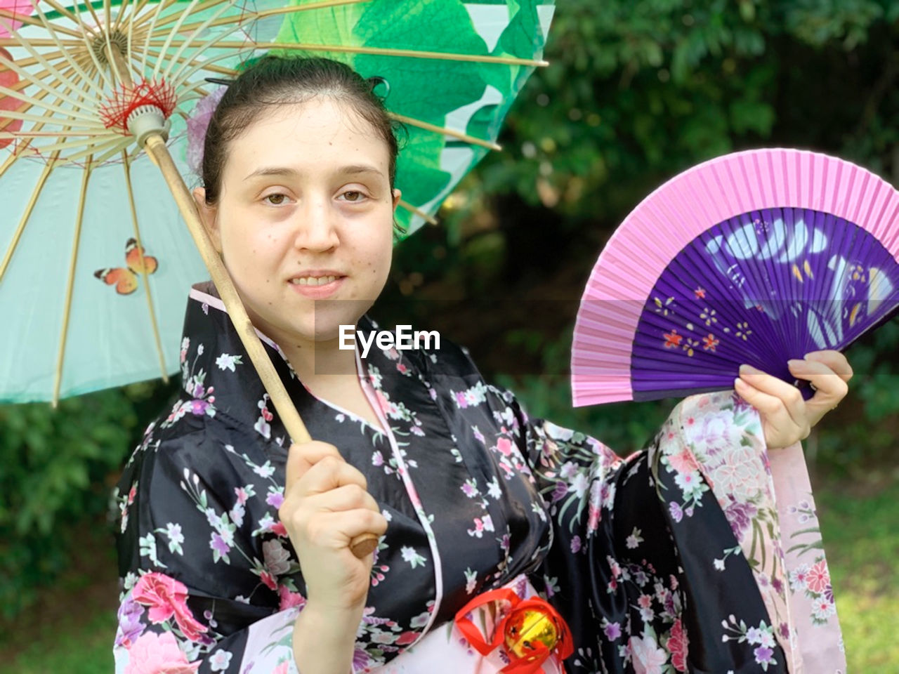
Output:
[[[857,164],[789,148],[744,150],[697,164],[664,182],[642,200],[611,235],[593,266],[574,324],[571,355],[574,407],[633,399],[630,353],[622,353],[621,342],[596,323],[596,316],[591,315],[591,303],[625,300],[629,304],[621,307],[642,305],[655,280],[684,245],[710,226],[764,208],[813,208],[845,218],[875,235],[899,262],[899,232],[887,234],[899,212],[899,192]],[[702,217],[696,217],[697,210]],[[673,228],[674,235],[642,242],[645,251],[641,250],[644,254],[639,263],[645,271],[633,274],[626,288],[602,283],[607,267],[627,269],[634,265],[630,255],[619,256],[619,248],[627,248],[623,242],[635,226],[642,227],[643,231],[658,227],[660,232]],[[625,310],[616,318],[615,333],[623,330],[632,337],[636,334],[640,311]],[[604,358],[601,378],[594,377],[591,369],[597,363],[590,355],[614,347],[618,353],[613,358]]]

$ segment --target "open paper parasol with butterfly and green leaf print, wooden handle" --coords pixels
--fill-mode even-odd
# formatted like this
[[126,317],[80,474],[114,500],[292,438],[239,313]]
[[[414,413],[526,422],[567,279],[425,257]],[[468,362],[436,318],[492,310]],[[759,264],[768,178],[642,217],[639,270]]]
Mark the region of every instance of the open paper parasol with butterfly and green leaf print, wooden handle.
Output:
[[551,14],[551,0],[4,0],[0,400],[55,401],[174,372],[201,257],[291,438],[307,439],[182,180],[185,121],[212,89],[205,78],[269,51],[380,58],[389,72],[363,75],[385,77],[389,107],[409,98],[392,74],[414,73],[411,100],[432,115],[391,112],[416,129],[406,149],[436,190],[405,203],[421,221],[495,146],[541,63]]

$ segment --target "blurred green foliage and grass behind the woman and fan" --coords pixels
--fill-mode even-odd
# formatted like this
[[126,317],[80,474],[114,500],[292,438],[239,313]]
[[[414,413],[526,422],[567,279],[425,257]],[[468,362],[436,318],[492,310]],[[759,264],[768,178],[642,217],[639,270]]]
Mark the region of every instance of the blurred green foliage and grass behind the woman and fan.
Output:
[[[628,453],[674,401],[571,408],[602,245],[659,184],[734,150],[814,149],[899,184],[899,0],[559,0],[547,59],[503,152],[396,249],[371,313],[439,330],[531,415]],[[850,395],[806,458],[850,671],[899,672],[899,323],[848,356]],[[0,406],[0,672],[112,670],[111,486],[177,386]]]

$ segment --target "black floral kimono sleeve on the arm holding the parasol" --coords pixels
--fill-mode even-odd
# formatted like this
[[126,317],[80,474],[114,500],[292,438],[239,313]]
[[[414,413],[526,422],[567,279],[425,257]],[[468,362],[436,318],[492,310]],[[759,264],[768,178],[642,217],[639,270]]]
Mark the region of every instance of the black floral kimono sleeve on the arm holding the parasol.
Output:
[[117,674],[297,671],[305,601],[273,581],[288,554],[245,459],[197,432],[145,441],[126,466]]

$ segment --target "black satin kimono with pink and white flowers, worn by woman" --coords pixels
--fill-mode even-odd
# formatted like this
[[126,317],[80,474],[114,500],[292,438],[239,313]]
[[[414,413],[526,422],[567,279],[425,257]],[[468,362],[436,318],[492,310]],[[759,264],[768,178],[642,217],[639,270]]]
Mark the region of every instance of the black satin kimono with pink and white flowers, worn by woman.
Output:
[[[120,673],[302,671],[290,636],[306,587],[278,519],[289,440],[210,292],[191,291],[182,398],[116,491]],[[445,340],[357,356],[387,432],[316,399],[268,343],[311,436],[360,468],[388,520],[354,671],[500,670],[503,646],[482,656],[454,618],[502,586],[565,618],[569,674],[845,670],[807,482],[778,489],[759,417],[732,395],[687,399],[622,459],[530,419]]]

